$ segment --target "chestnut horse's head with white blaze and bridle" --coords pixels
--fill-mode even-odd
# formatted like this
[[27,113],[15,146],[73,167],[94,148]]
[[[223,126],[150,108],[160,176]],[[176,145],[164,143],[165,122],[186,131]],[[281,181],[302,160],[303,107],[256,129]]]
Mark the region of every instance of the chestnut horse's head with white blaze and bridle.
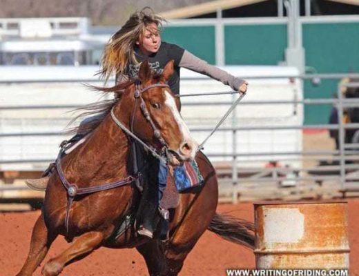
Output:
[[175,152],[177,158],[171,164],[177,165],[178,159],[194,159],[198,144],[179,114],[179,101],[166,86],[173,70],[170,61],[162,75],[154,75],[148,62],[142,62],[137,86],[134,83],[123,93],[119,110],[126,109],[126,121],[137,137],[155,148],[165,144]]

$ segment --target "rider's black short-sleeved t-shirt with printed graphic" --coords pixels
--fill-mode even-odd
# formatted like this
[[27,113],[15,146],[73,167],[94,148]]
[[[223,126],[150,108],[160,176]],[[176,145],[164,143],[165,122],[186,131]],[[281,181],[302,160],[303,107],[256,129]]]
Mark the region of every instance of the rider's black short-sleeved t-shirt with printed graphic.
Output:
[[[135,48],[135,56],[137,61],[141,63],[142,61],[147,60],[149,66],[157,74],[162,74],[164,66],[173,59],[175,61],[175,71],[170,79],[168,79],[168,85],[170,86],[172,92],[175,95],[179,95],[179,61],[181,61],[184,53],[184,49],[171,43],[166,43],[162,41],[159,50],[153,55],[146,56],[143,55],[139,48]],[[129,64],[126,68],[126,75],[131,79],[138,76],[140,64]]]

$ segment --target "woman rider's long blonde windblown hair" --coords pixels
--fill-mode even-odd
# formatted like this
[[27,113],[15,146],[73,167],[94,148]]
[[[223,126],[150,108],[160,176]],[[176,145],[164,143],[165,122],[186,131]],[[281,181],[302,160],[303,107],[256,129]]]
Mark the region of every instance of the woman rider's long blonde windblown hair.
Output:
[[106,82],[113,73],[124,75],[129,63],[137,63],[134,49],[136,41],[141,39],[146,28],[152,23],[155,23],[157,28],[162,30],[163,21],[165,20],[156,15],[149,7],[131,14],[124,26],[113,34],[106,44],[99,75]]

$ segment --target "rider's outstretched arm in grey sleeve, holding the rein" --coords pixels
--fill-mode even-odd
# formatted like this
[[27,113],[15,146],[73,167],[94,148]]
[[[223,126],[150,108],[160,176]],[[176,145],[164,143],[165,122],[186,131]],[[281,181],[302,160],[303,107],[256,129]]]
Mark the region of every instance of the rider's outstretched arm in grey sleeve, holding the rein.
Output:
[[[179,61],[179,67],[184,67],[195,72],[199,72],[203,75],[211,77],[212,79],[217,79],[235,91],[241,90],[241,92],[246,92],[246,81],[244,79],[239,79],[229,74],[228,72],[208,64],[206,61],[196,57],[187,50],[184,50],[181,61]],[[243,87],[245,86],[245,89]]]

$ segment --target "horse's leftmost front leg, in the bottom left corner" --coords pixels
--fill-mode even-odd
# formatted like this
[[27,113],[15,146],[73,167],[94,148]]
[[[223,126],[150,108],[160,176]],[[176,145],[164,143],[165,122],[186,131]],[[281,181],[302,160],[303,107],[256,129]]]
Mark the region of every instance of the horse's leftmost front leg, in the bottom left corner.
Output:
[[34,273],[36,268],[43,261],[46,253],[48,253],[48,248],[50,248],[50,245],[56,237],[57,234],[48,232],[45,221],[43,221],[43,215],[41,214],[35,223],[34,229],[32,230],[28,258],[17,276],[32,275],[32,273]]

